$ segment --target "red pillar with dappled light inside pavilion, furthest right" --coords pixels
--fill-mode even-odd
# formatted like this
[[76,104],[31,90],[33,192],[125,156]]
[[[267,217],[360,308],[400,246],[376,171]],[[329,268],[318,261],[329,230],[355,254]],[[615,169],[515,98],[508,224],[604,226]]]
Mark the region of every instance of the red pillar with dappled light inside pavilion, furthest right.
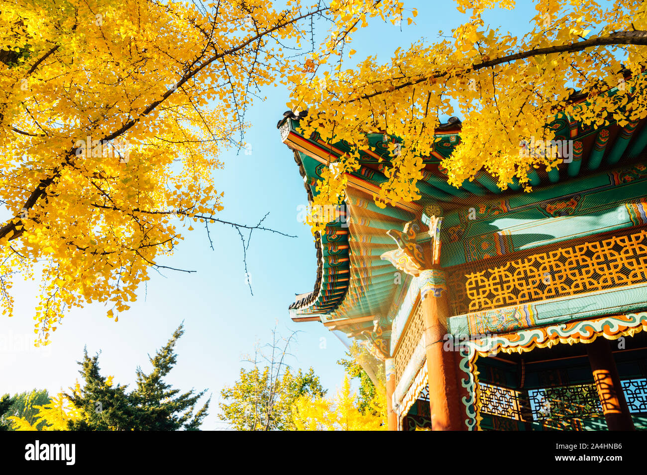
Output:
[[607,427],[609,430],[635,430],[609,342],[598,336],[593,343],[586,345],[586,352]]

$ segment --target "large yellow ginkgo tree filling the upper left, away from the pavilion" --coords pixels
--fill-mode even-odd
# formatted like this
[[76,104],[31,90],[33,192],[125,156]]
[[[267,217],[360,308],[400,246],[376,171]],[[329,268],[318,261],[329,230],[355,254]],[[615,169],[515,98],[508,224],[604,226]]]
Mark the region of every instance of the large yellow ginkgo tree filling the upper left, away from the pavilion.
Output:
[[298,52],[315,45],[314,21],[334,52],[397,5],[0,0],[0,12],[0,294],[12,315],[14,274],[42,269],[34,332],[48,343],[71,307],[104,302],[116,320],[151,268],[171,268],[159,262],[180,226],[271,231],[217,218],[219,154],[244,145],[253,96],[310,68]]

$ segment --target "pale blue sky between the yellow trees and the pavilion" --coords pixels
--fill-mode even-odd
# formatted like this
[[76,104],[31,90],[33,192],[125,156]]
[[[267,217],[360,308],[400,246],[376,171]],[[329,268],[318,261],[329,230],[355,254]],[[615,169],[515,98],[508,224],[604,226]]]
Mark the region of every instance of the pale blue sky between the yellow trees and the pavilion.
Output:
[[[492,26],[522,35],[534,15],[530,2],[522,4],[513,12],[498,10],[485,18]],[[415,24],[406,26],[403,21],[400,29],[381,20],[371,21],[356,32],[353,48],[357,53],[345,67],[369,55],[377,54],[379,61],[387,61],[396,48],[421,37],[435,41],[439,30],[449,34],[465,21],[452,1],[410,1],[404,6],[418,9]],[[186,333],[177,346],[178,363],[168,383],[181,390],[208,388],[213,394],[204,429],[226,428],[217,418],[220,391],[236,381],[241,366],[248,367],[242,363],[242,355],[252,352],[256,341],[270,340],[276,321],[283,335],[300,330],[292,346],[292,366],[312,366],[331,392],[340,386],[344,373],[335,362],[344,357],[342,343],[322,324],[295,324],[289,319],[287,307],[295,293],[313,289],[316,252],[309,229],[297,221],[297,207],[307,200],[302,178],[276,129],[287,109],[289,91],[278,85],[263,92],[267,100],[257,100],[247,112],[252,124],[246,138],[250,153],[223,154],[225,168],[215,171],[218,189],[225,191],[221,218],[256,224],[269,211],[268,227],[298,235],[287,238],[254,231],[247,253],[254,296],[245,281],[237,232],[217,225],[211,228],[215,251],[204,227],[195,226],[193,231],[185,230],[175,255],[160,262],[197,273],[167,271],[165,277],[151,273],[148,286],[139,290],[138,301],[116,323],[105,317],[102,304],[71,311],[52,335],[52,344],[43,348],[32,345],[39,282],[17,282],[13,289],[15,316],[0,317],[0,394],[32,388],[47,388],[50,393],[67,389],[78,377],[76,361],[86,345],[90,354],[102,351],[104,375],[115,375],[116,382],[133,385],[136,366],[148,371],[148,354],[165,344],[181,321]]]

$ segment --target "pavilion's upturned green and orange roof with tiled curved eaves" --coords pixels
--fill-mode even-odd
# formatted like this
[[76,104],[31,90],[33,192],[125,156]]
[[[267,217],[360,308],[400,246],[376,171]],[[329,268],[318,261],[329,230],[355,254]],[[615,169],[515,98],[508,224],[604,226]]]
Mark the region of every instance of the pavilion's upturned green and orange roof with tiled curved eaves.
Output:
[[[613,93],[614,90],[609,92]],[[630,122],[624,127],[610,121],[595,129],[562,113],[548,126],[555,131],[556,140],[573,140],[573,162],[560,164],[551,171],[538,169],[529,174],[534,193],[635,162],[647,147],[647,120]],[[280,121],[278,127],[283,143],[293,151],[311,202],[323,167],[350,147],[343,142],[323,142],[316,133],[304,137],[298,131],[299,121],[291,118]],[[390,165],[391,156],[382,134],[368,134],[371,149],[360,153],[360,169],[347,174],[346,205],[352,219],[346,223],[331,222],[325,232],[316,236],[316,282],[313,291],[298,295],[291,304],[294,321],[323,321],[360,339],[388,342],[386,329],[390,328],[393,312],[404,298],[402,289],[406,290],[406,285],[393,285],[397,269],[380,257],[395,247],[386,231],[401,230],[404,223],[419,216],[426,206],[448,211],[465,207],[476,196],[481,202],[500,201],[521,192],[518,182],[502,191],[496,186],[496,180],[483,171],[474,181],[465,182],[459,188],[448,184],[440,162],[460,143],[460,130],[460,121],[436,129],[435,136],[440,140],[435,143],[432,154],[422,160],[424,178],[418,184],[421,199],[384,209],[375,205],[372,196],[386,181],[383,172]]]

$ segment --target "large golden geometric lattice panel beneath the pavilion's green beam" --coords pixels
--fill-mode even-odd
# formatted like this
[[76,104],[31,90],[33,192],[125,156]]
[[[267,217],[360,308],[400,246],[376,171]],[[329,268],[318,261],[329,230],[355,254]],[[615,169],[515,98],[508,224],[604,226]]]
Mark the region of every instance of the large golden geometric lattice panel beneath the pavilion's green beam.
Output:
[[456,315],[647,282],[647,231],[611,235],[450,273]]

